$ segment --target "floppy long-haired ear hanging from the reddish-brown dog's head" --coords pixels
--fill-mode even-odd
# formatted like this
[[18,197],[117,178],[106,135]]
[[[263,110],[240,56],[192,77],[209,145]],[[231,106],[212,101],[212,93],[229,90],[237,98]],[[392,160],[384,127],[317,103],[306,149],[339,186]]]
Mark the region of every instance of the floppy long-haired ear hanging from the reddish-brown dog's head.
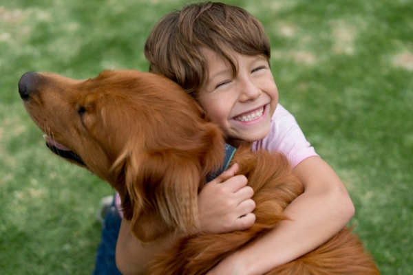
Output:
[[199,159],[173,149],[130,155],[126,184],[134,212],[131,229],[140,241],[199,227]]

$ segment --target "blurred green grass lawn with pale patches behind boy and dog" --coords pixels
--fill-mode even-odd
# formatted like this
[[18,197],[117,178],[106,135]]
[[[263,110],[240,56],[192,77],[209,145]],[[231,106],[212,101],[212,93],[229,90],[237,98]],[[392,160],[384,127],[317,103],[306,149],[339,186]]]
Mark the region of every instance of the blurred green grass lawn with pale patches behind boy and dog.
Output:
[[[382,274],[413,274],[413,0],[226,1],[271,39],[280,102],[346,184]],[[17,93],[29,71],[147,71],[186,1],[0,0],[0,274],[90,274],[108,184],[52,155]]]

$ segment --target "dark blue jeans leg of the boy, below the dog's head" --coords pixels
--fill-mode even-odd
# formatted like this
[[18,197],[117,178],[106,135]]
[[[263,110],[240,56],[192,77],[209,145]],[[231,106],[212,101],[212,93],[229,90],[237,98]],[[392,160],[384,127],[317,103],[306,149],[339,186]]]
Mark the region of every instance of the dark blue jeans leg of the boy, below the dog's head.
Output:
[[122,218],[119,216],[114,200],[106,214],[105,223],[103,223],[102,240],[96,254],[93,275],[122,275],[116,267],[115,258],[116,241],[118,241],[121,222]]

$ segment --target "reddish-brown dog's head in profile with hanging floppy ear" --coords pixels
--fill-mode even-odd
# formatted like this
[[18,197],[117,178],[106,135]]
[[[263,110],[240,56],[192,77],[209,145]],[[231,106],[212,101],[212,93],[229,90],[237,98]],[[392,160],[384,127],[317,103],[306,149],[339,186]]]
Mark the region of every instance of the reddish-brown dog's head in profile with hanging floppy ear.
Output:
[[89,80],[30,72],[19,93],[54,153],[118,190],[138,239],[197,226],[197,195],[222,165],[223,140],[179,85],[136,71]]

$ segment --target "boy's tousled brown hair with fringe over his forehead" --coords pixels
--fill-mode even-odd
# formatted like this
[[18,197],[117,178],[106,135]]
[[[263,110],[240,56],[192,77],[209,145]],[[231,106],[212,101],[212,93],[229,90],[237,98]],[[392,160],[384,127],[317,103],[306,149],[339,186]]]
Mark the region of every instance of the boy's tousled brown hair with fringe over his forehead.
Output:
[[231,52],[262,55],[269,62],[271,47],[260,21],[246,10],[225,3],[184,6],[160,19],[145,43],[149,72],[163,74],[194,98],[207,80],[202,48],[220,54],[237,74]]

